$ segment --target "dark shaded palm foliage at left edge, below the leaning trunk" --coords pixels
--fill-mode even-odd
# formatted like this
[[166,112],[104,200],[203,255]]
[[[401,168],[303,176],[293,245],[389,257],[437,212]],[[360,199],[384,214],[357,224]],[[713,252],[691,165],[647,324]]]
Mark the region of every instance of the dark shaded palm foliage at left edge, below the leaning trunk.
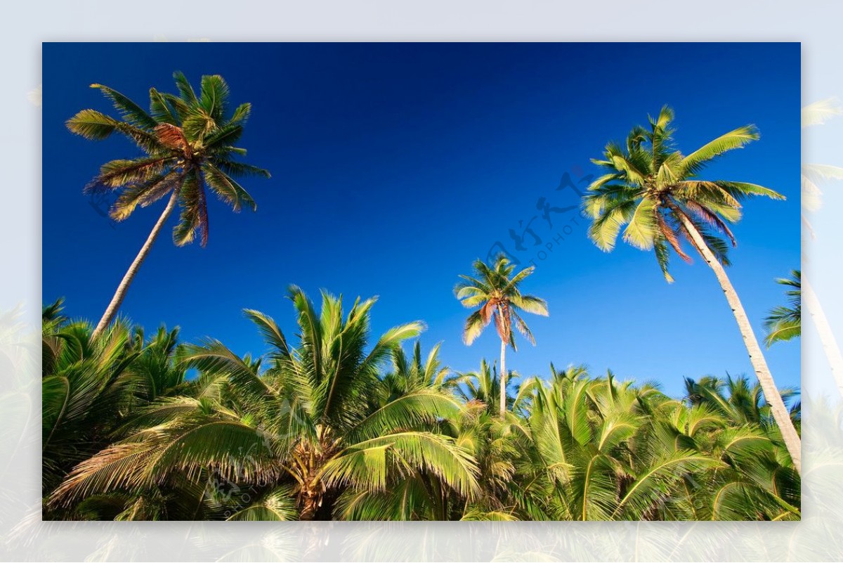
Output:
[[51,490],[79,462],[111,442],[138,409],[179,391],[185,370],[174,362],[177,330],[143,331],[118,320],[99,339],[91,327],[43,311],[42,484]]

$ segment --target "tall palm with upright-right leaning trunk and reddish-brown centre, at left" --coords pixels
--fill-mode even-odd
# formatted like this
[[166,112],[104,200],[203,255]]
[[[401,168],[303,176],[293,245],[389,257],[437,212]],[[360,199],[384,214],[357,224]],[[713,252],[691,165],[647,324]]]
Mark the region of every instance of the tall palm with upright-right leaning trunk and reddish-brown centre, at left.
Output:
[[139,158],[103,164],[99,174],[85,186],[86,193],[120,190],[120,196],[110,210],[110,216],[116,221],[132,215],[137,206],[150,206],[169,195],[164,211],[99,319],[94,338],[114,319],[138,268],[177,204],[181,215],[173,229],[173,242],[178,246],[188,244],[199,231],[201,244],[205,246],[208,238],[206,186],[235,212],[242,206],[250,206],[254,211],[255,200],[234,177],[261,175],[269,178],[270,175],[264,169],[234,159],[245,153],[234,143],[243,134],[251,105],[241,104],[229,114],[228,84],[221,76],[203,76],[198,95],[184,74],[175,72],[174,78],[180,94],[164,94],[150,88],[149,112],[112,88],[92,84],[91,88],[98,88],[113,102],[121,119],[97,110],[82,110],[67,121],[70,131],[86,139],[99,141],[116,132],[135,142],[145,153]]

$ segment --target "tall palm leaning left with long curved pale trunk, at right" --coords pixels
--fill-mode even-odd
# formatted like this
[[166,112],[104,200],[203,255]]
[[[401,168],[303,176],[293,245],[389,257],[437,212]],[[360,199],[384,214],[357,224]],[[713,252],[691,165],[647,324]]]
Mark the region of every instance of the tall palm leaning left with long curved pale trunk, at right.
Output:
[[594,180],[583,196],[583,209],[593,218],[588,236],[608,252],[615,247],[620,229],[626,225],[624,240],[638,249],[654,250],[668,282],[673,281],[668,272],[669,249],[690,261],[681,240],[690,242],[714,271],[722,287],[787,450],[793,464],[800,469],[799,434],[778,394],[744,306],[724,269],[729,261],[728,244],[723,238],[735,244],[728,223],[735,223],[741,217],[740,201],[749,196],[777,200],[784,196],[760,185],[703,180],[698,176],[707,164],[723,153],[758,139],[754,126],[738,127],[685,155],[674,148],[670,128],[673,119],[673,110],[663,107],[658,119],[650,119],[649,128],[636,126],[632,129],[626,146],[609,142],[604,158],[593,160],[606,174]]

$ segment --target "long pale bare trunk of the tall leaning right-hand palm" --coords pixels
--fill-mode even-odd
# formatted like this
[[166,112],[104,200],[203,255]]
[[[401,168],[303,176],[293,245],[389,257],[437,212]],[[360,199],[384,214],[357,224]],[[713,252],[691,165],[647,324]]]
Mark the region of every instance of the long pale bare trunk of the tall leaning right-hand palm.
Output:
[[726,270],[723,268],[720,261],[717,260],[714,253],[711,252],[711,249],[708,248],[706,241],[702,239],[702,236],[694,226],[694,223],[691,223],[690,219],[678,207],[671,206],[671,208],[674,210],[676,215],[679,216],[679,220],[682,222],[685,230],[687,230],[690,234],[690,238],[694,242],[694,246],[700,252],[703,259],[706,260],[706,263],[711,267],[711,270],[714,271],[714,275],[717,276],[717,281],[720,282],[720,287],[726,295],[729,307],[732,308],[735,320],[738,321],[740,334],[744,337],[744,345],[746,346],[746,351],[749,352],[749,362],[752,362],[755,377],[758,378],[761,389],[764,391],[764,397],[767,399],[767,403],[770,404],[773,419],[776,421],[776,425],[779,426],[781,437],[784,439],[787,452],[791,455],[793,466],[796,468],[799,475],[802,475],[802,441],[799,438],[799,434],[796,432],[796,427],[793,426],[790,412],[788,412],[784,401],[781,399],[781,394],[779,394],[779,390],[776,387],[776,382],[773,381],[773,376],[770,373],[770,368],[767,367],[764,355],[761,354],[761,347],[758,345],[758,339],[755,338],[755,334],[752,330],[752,324],[749,323],[749,317],[746,315],[744,306],[740,303],[738,292],[735,291],[735,288],[732,286],[732,282],[729,281],[729,277],[726,275]]

